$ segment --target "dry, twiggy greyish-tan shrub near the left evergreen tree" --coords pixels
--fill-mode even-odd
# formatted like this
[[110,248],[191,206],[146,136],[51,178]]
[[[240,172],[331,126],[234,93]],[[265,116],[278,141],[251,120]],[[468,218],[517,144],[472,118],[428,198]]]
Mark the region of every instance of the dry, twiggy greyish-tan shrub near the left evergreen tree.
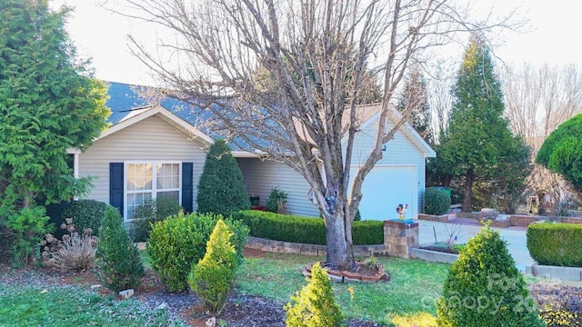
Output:
[[86,228],[82,233],[76,232],[71,218],[61,224],[61,230],[68,232],[62,240],[49,233],[40,242],[45,267],[61,272],[83,272],[93,268],[97,249],[97,237],[91,235],[93,231]]

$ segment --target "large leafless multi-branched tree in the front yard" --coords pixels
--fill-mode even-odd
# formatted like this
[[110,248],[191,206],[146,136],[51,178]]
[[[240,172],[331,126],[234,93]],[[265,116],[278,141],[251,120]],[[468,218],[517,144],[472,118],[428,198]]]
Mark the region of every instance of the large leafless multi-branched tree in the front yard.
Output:
[[[470,8],[447,0],[125,2],[174,32],[156,53],[132,39],[135,54],[174,96],[206,104],[230,142],[306,178],[326,222],[326,262],[350,270],[362,183],[406,124],[391,100],[408,66],[462,32],[507,25],[470,22]],[[382,75],[382,102],[374,147],[350,176],[366,65]]]

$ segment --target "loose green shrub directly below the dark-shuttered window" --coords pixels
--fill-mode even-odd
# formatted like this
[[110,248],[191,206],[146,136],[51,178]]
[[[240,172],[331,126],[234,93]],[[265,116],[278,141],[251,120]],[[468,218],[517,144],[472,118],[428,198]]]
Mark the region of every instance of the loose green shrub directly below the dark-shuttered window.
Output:
[[135,208],[131,223],[131,237],[134,242],[146,242],[152,230],[152,224],[176,215],[183,208],[176,199],[170,196],[158,196],[149,199]]

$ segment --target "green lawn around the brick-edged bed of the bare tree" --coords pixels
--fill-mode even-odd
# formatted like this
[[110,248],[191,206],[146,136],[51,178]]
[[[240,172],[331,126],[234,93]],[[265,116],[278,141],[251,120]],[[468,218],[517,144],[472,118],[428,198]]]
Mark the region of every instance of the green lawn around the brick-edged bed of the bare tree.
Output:
[[[269,253],[249,258],[236,274],[236,289],[289,302],[306,284],[301,269],[324,258]],[[391,281],[380,283],[334,283],[336,301],[346,317],[390,323],[390,316],[420,312],[436,314],[435,302],[442,291],[450,265],[417,260],[378,257]]]

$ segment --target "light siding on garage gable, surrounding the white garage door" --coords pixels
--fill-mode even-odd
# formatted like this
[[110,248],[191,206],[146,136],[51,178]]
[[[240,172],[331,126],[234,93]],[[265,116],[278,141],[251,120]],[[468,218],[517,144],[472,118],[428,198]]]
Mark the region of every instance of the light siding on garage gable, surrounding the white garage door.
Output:
[[[388,124],[386,131],[392,128],[392,124]],[[406,127],[402,127],[403,129]],[[377,123],[367,124],[362,131],[356,134],[354,142],[354,152],[352,157],[352,166],[358,166],[364,163],[367,156],[371,153],[375,145],[375,137],[377,131]],[[423,208],[423,194],[425,193],[426,184],[426,159],[418,146],[401,130],[396,132],[394,139],[386,143],[386,151],[382,152],[383,158],[376,163],[376,165],[414,165],[416,169],[416,184],[417,184],[417,203],[415,212],[422,213]]]

